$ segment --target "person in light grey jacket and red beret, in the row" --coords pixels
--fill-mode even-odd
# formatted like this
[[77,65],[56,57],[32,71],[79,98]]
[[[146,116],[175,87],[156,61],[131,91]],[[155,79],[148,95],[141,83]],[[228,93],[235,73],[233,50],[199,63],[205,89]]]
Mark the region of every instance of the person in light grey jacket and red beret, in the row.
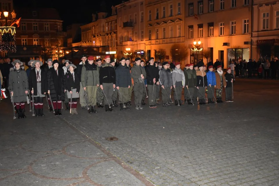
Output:
[[174,102],[175,105],[182,105],[181,94],[182,89],[185,87],[185,75],[180,69],[180,62],[175,63],[175,68],[171,73],[172,85],[174,87]]

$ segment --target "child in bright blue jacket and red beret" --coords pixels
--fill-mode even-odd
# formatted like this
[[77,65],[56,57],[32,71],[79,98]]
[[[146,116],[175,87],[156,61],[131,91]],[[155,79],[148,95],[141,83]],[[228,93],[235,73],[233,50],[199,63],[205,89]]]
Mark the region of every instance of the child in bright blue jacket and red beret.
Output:
[[207,93],[208,103],[215,103],[214,87],[216,87],[216,76],[215,76],[215,72],[213,71],[212,65],[208,67],[208,70],[209,71],[206,73],[206,77],[207,77],[206,93]]

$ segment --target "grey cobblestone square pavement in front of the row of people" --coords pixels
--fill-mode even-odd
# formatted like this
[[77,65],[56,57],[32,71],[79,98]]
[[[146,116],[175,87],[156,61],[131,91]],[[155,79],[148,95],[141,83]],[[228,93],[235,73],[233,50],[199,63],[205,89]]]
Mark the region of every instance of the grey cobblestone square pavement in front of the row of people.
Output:
[[16,120],[2,101],[0,185],[279,185],[279,82],[234,89],[233,103]]

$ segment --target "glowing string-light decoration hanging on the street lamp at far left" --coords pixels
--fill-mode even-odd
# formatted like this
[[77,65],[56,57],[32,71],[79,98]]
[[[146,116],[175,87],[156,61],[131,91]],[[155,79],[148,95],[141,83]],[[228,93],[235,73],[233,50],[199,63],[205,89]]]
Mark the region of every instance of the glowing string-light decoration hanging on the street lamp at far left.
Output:
[[0,27],[0,51],[15,53],[15,27],[1,26]]

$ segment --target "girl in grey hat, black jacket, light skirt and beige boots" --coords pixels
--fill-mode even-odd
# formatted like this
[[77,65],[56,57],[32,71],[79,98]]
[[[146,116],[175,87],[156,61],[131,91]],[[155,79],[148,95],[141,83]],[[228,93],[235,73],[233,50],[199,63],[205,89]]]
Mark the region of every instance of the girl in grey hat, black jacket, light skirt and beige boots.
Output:
[[[78,74],[74,72],[74,69],[76,69],[76,66],[74,64],[69,64],[67,66],[67,69],[68,71],[65,74],[65,90],[66,90],[66,96],[69,99],[68,108],[71,109],[70,110],[71,114],[78,114],[78,112],[76,111],[76,106],[77,106],[77,98],[79,98],[78,92],[80,92],[80,81],[78,78]],[[71,96],[72,96],[72,100],[71,100]]]

